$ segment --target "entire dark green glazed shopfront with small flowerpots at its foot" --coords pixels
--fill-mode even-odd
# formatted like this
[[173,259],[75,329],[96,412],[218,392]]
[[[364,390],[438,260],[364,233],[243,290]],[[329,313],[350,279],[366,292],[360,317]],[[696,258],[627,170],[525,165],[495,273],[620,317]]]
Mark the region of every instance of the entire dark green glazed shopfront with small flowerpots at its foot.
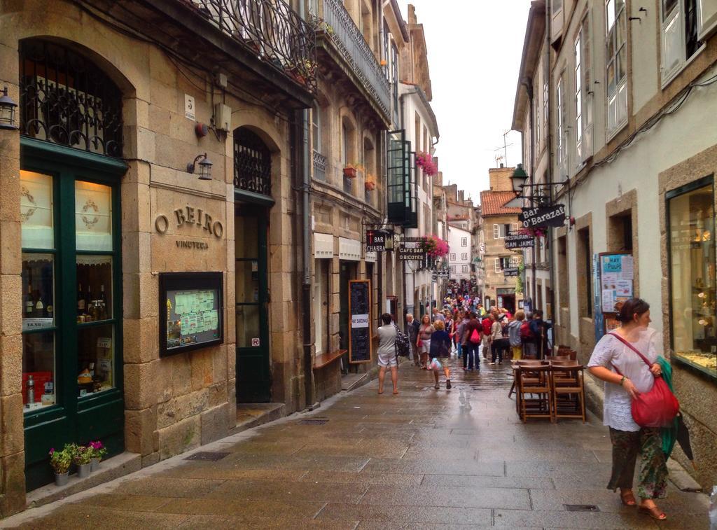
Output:
[[21,146],[29,491],[52,481],[51,448],[102,440],[108,455],[124,450],[118,182],[126,166],[30,138]]

